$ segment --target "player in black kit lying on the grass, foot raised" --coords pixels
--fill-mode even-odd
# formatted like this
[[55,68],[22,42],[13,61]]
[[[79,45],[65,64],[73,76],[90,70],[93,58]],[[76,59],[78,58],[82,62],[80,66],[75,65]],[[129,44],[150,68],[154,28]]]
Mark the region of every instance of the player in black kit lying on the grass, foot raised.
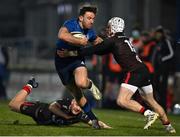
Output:
[[[28,84],[10,101],[10,109],[32,117],[37,124],[41,125],[61,126],[78,122],[84,122],[90,126],[92,125],[92,121],[81,111],[81,108],[74,99],[61,99],[50,104],[26,101],[32,88],[37,87],[38,83],[35,81],[35,78],[30,79]],[[111,128],[102,121],[98,122],[101,128]]]

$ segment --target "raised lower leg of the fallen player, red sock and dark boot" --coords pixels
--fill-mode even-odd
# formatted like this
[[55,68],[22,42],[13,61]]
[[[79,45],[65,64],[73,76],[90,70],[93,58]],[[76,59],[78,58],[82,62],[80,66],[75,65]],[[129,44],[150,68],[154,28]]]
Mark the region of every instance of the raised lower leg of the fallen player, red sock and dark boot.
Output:
[[34,78],[31,78],[28,83],[15,95],[9,102],[11,110],[20,112],[20,106],[26,101],[27,96],[31,93],[32,88],[37,88],[38,84]]

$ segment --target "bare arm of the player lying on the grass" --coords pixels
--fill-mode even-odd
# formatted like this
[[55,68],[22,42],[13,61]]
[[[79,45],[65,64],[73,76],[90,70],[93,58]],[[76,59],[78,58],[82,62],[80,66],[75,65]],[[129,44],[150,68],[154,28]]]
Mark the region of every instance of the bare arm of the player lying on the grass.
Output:
[[65,119],[73,118],[72,116],[67,115],[63,111],[61,111],[61,106],[57,102],[53,102],[49,105],[49,110],[56,114],[57,116],[63,117]]

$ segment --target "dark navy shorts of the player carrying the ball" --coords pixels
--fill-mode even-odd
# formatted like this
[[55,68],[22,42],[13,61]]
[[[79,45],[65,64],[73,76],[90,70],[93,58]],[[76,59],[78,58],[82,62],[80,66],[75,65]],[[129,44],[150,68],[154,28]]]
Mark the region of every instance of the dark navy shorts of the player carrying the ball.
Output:
[[55,57],[55,67],[56,71],[64,85],[68,85],[74,79],[73,72],[76,68],[85,65],[84,58],[75,58],[75,59],[60,59]]

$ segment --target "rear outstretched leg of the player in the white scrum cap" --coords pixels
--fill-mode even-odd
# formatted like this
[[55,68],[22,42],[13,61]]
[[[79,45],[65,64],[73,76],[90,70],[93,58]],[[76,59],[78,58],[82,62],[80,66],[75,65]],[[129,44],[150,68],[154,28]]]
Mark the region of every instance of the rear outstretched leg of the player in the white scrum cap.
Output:
[[[169,133],[175,133],[175,129],[172,127],[172,125],[170,124],[170,121],[164,111],[164,109],[157,103],[157,101],[154,99],[153,96],[153,88],[152,85],[149,86],[144,86],[141,88],[140,90],[140,94],[143,98],[143,100],[145,100],[145,102],[147,102],[147,104],[156,112],[159,114],[159,118],[162,121],[162,124],[165,126],[165,129],[169,132]],[[146,128],[146,127],[145,127]]]

